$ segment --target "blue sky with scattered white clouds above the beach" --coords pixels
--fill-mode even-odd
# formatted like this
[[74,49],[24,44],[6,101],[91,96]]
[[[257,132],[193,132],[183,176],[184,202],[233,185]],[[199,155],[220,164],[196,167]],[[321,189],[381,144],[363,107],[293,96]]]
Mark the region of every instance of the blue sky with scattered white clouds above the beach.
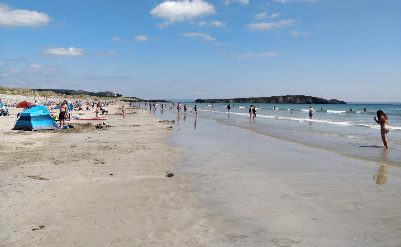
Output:
[[396,0],[5,1],[0,86],[401,102],[400,9]]

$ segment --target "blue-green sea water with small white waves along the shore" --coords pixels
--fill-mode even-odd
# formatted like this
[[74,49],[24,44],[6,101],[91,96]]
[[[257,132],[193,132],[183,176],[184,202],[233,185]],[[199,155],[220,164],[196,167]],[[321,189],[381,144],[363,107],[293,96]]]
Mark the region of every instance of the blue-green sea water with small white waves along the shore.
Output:
[[[256,120],[249,119],[251,104],[231,104],[230,114],[227,112],[227,103],[215,103],[214,107],[211,103],[196,105],[198,118],[209,118],[225,125],[242,128],[244,131],[401,168],[401,105],[256,104]],[[313,120],[309,119],[310,106],[314,108]],[[365,107],[367,112],[363,111]],[[194,108],[194,103],[188,103],[187,114],[190,114],[190,108]],[[383,148],[380,125],[373,119],[379,109],[389,118],[389,149]],[[176,109],[171,111],[177,112]],[[182,110],[181,114],[183,112]],[[243,147],[239,146],[238,151],[241,149]]]

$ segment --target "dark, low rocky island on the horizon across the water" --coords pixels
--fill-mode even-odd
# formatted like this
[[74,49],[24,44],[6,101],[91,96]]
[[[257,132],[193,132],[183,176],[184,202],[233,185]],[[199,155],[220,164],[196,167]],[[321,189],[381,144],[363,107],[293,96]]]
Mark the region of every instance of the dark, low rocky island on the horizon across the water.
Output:
[[213,100],[195,100],[196,103],[269,103],[269,104],[346,104],[341,100],[326,100],[323,98],[306,95],[282,95],[259,98],[233,98],[233,99],[213,99]]

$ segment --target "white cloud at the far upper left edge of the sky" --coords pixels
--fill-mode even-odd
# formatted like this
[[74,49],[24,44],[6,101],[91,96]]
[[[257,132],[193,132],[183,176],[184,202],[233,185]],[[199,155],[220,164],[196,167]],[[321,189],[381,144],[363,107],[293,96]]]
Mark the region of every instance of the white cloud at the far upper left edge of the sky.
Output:
[[12,9],[7,4],[0,4],[0,26],[38,27],[48,25],[50,16],[44,12]]

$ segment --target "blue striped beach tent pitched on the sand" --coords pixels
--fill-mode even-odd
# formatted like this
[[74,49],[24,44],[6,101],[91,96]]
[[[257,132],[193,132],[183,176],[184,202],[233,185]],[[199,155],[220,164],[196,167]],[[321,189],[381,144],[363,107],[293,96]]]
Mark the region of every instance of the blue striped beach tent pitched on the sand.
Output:
[[59,129],[56,121],[50,115],[46,106],[31,106],[26,108],[14,125],[14,130],[38,131]]

